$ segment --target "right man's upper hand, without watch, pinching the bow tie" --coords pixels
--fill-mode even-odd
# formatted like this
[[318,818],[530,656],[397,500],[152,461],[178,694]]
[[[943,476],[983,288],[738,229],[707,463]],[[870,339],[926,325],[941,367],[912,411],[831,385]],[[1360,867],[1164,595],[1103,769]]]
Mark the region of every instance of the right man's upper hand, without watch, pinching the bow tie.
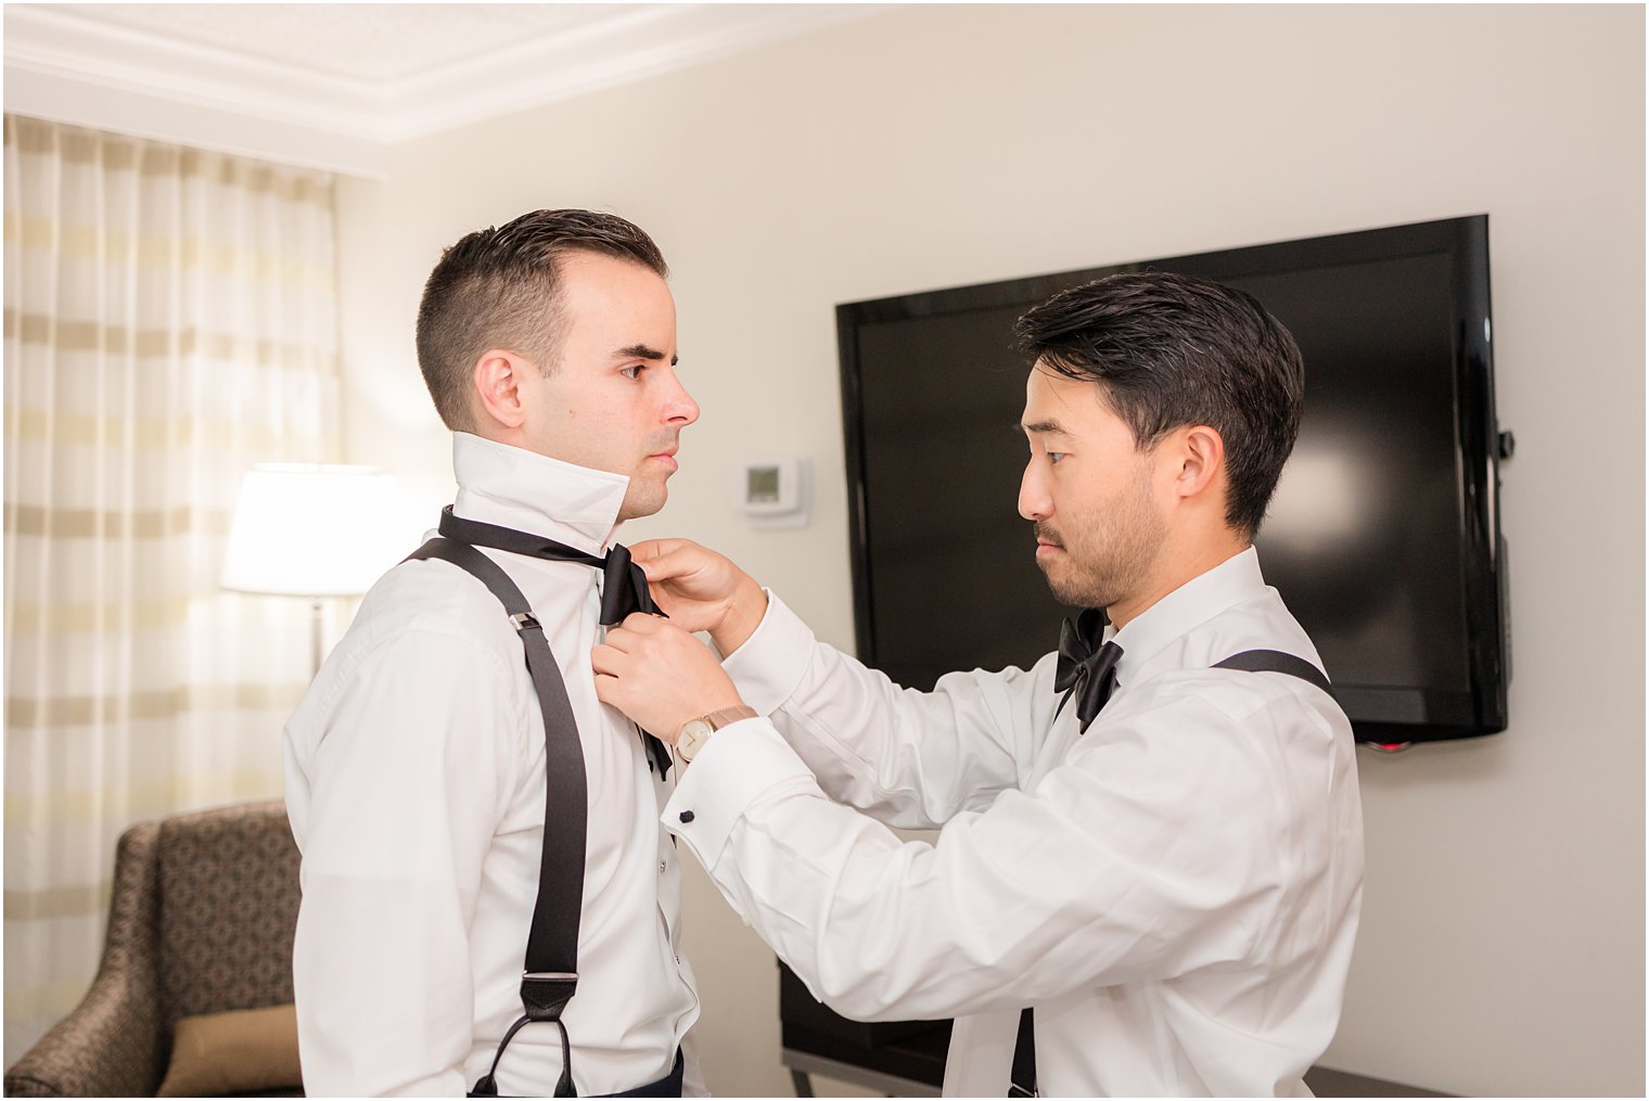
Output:
[[[767,593],[726,555],[691,539],[648,539],[630,547],[658,607],[689,631],[709,631],[722,656],[744,646],[767,615]],[[691,719],[693,715],[689,715]]]

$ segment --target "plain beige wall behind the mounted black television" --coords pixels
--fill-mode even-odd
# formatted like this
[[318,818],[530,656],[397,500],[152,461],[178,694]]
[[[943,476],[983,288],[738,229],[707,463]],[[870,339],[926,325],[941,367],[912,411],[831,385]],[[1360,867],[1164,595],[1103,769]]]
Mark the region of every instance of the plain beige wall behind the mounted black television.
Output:
[[[618,211],[676,269],[704,405],[630,537],[722,547],[849,646],[834,303],[1487,211],[1512,729],[1362,757],[1367,905],[1324,1061],[1641,1094],[1642,63],[1634,7],[925,7],[417,142],[341,191],[351,458],[447,499],[411,343],[439,249]],[[815,463],[805,531],[731,508],[772,453]],[[689,895],[709,1081],[785,1093],[772,956]]]

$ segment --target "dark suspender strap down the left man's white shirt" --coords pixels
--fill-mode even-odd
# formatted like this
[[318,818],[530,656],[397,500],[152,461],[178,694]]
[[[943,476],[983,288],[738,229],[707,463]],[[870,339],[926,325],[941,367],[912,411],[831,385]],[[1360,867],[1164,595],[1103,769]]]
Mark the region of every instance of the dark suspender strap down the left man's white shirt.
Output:
[[496,562],[475,547],[452,539],[430,539],[407,555],[440,559],[470,572],[505,607],[526,651],[526,669],[544,714],[544,847],[538,865],[538,902],[526,939],[526,971],[521,976],[524,1014],[505,1033],[493,1066],[475,1083],[472,1096],[498,1096],[493,1075],[514,1033],[529,1022],[549,1020],[561,1028],[561,1081],[557,1098],[576,1096],[572,1085],[572,1043],[561,1010],[579,989],[579,913],[584,908],[584,844],[589,791],[584,776],[584,747],[567,700],[556,656],[533,607]]

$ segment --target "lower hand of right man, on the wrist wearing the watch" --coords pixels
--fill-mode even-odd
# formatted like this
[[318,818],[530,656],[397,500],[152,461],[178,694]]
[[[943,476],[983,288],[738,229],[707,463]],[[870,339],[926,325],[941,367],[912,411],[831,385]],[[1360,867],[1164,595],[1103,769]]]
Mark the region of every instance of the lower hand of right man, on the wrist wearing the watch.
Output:
[[595,696],[669,745],[689,719],[744,704],[716,654],[674,620],[630,615],[590,651],[590,664]]

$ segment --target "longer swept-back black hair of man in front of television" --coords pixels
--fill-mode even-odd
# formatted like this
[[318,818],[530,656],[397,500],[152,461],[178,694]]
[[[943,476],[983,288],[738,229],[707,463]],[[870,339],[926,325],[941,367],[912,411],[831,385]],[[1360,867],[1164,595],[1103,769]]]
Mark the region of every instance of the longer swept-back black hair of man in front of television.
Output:
[[1136,447],[1184,425],[1215,429],[1225,522],[1253,539],[1306,391],[1299,346],[1253,295],[1176,272],[1121,272],[1054,295],[1014,328],[1045,368],[1100,382]]

